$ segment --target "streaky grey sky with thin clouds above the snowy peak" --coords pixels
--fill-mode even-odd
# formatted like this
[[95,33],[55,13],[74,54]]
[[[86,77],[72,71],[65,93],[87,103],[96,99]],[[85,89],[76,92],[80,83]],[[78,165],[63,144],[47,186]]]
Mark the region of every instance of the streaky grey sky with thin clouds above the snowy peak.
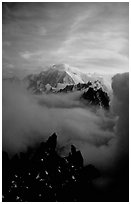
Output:
[[3,71],[128,71],[128,3],[3,3]]

